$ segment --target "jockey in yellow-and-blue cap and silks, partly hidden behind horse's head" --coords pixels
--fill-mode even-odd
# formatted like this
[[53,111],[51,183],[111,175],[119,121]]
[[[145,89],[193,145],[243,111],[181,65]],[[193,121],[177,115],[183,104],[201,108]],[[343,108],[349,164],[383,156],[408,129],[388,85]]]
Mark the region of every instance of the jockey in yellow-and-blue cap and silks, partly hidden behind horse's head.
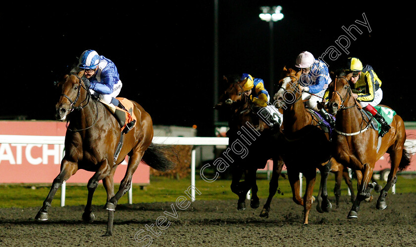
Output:
[[[264,82],[260,78],[253,78],[249,74],[243,74],[241,76],[241,81],[247,79],[247,82],[243,85],[243,90],[247,96],[250,96],[250,99],[257,106],[266,107],[267,101],[270,100],[270,96],[267,90],[264,88]],[[254,90],[253,90],[254,88]]]

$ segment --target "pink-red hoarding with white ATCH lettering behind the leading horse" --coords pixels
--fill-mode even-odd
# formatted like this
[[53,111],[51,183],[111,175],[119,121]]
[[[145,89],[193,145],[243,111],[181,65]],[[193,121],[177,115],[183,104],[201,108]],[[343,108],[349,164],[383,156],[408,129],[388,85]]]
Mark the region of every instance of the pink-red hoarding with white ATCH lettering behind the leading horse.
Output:
[[[0,121],[0,135],[65,136],[66,123],[57,121]],[[52,183],[59,174],[63,144],[0,143],[0,183]],[[114,175],[119,183],[127,169],[127,158]],[[67,183],[87,183],[93,172],[78,170]],[[150,183],[150,167],[140,164],[132,182]]]

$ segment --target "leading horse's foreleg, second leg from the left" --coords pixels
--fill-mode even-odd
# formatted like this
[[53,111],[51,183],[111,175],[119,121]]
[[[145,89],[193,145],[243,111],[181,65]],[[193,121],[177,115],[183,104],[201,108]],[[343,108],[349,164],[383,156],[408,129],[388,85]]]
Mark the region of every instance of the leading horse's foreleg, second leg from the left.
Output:
[[[115,170],[115,169],[114,169]],[[95,219],[94,213],[92,212],[92,202],[93,202],[93,195],[95,190],[97,189],[98,182],[104,177],[107,177],[110,174],[111,168],[108,164],[107,160],[104,160],[103,163],[100,165],[98,171],[94,173],[94,175],[90,178],[87,184],[88,188],[88,199],[87,205],[84,208],[84,213],[82,214],[82,219],[85,222],[93,222]],[[114,172],[112,172],[114,174]]]

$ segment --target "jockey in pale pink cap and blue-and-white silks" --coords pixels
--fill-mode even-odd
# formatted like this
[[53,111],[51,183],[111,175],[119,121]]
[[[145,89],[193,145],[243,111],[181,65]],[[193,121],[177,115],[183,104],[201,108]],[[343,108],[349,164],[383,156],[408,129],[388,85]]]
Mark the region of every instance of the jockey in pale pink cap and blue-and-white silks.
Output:
[[301,84],[302,100],[307,100],[306,106],[319,112],[319,114],[332,126],[335,121],[324,108],[318,109],[317,102],[322,102],[323,96],[329,83],[332,81],[329,76],[328,66],[321,60],[315,59],[311,52],[304,51],[296,58],[296,67],[302,70],[299,79]]

